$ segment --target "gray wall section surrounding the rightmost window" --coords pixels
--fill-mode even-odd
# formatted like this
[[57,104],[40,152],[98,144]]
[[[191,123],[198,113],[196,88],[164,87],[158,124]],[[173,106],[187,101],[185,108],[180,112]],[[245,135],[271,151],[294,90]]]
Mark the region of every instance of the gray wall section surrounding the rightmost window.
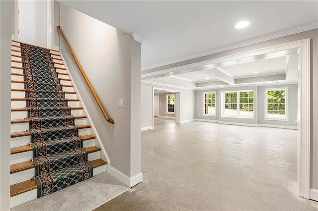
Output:
[[[288,88],[288,121],[273,121],[265,120],[265,96],[264,89],[266,88]],[[259,124],[276,124],[276,125],[287,125],[287,126],[297,126],[297,84],[281,85],[281,86],[265,86],[257,88],[257,109],[258,109],[258,123]]]

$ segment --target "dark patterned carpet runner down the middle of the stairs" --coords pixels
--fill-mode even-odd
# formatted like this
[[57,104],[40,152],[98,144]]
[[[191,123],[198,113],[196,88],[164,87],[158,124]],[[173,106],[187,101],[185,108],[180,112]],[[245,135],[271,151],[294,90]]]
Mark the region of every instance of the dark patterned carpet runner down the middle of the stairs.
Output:
[[21,44],[38,197],[93,176],[49,50]]

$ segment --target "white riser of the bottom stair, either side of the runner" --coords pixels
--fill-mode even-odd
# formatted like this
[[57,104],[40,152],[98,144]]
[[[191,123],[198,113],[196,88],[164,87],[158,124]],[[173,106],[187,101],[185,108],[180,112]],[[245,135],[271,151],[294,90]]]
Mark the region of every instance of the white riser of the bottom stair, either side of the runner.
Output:
[[[107,165],[102,165],[102,166],[98,166],[97,168],[93,168],[93,175],[96,176],[100,173],[106,172],[106,166]],[[21,205],[25,202],[29,202],[29,201],[34,200],[36,198],[37,198],[37,190],[36,189],[19,194],[19,195],[14,196],[14,197],[11,197],[10,198],[10,208],[16,207],[18,205]]]

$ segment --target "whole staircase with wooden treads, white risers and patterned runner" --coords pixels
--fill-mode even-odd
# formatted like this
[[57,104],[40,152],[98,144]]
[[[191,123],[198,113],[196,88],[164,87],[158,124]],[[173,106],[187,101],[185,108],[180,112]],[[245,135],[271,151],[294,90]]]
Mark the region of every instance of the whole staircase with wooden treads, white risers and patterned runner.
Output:
[[[106,171],[106,161],[100,158],[101,149],[96,146],[98,141],[95,143],[93,130],[60,53],[31,46],[32,51],[46,52],[45,58],[54,62],[47,64],[46,60],[40,60],[43,58],[33,58],[38,66],[32,63],[32,69],[37,66],[38,72],[32,70],[34,75],[31,77],[26,74],[27,62],[25,57],[22,59],[21,45],[24,44],[12,41],[11,208],[88,179],[91,173],[87,174],[87,168],[92,169],[91,176]],[[24,50],[22,54],[25,55]],[[53,73],[50,65],[53,65]],[[41,68],[50,73],[42,75]],[[35,83],[30,83],[30,78]],[[37,81],[39,78],[41,83]],[[53,92],[65,96],[52,98]],[[65,125],[57,125],[61,122]],[[47,182],[45,178],[48,176],[54,183]],[[50,191],[45,185],[51,185]]]

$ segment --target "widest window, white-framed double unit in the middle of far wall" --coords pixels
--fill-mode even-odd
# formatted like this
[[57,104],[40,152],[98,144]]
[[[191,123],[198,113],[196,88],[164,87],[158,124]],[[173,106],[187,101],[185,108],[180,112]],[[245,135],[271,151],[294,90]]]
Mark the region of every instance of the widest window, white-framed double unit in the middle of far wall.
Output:
[[254,92],[222,92],[222,117],[254,117]]

